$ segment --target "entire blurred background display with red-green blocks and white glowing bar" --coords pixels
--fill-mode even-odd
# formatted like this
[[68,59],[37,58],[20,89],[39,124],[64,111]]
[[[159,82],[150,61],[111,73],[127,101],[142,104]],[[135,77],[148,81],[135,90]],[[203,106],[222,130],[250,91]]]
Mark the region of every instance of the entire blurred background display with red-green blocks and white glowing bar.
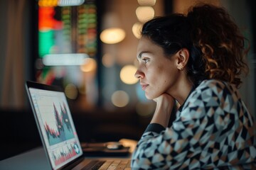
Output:
[[[97,89],[97,6],[94,0],[38,1],[37,81],[67,88],[68,98]],[[92,86],[92,88],[91,88]],[[96,86],[96,88],[95,88]]]

